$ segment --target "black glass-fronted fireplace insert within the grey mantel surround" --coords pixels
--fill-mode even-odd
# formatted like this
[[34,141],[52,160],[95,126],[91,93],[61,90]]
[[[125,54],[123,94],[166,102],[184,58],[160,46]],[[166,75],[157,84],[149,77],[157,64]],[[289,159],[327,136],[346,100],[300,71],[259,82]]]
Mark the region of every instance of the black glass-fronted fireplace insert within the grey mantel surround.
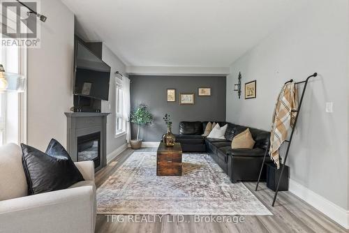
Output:
[[94,167],[101,166],[101,132],[77,137],[77,161],[94,161]]

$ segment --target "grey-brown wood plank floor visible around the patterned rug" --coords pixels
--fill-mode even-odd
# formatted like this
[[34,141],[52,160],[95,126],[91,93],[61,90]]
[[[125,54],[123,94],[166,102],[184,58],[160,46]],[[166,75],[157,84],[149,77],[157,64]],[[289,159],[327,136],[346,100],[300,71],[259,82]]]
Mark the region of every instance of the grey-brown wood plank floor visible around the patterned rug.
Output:
[[[156,151],[156,148],[144,148],[141,151]],[[96,173],[97,188],[124,163],[131,153],[133,150],[126,149],[107,167]],[[228,220],[217,223],[209,219],[198,222],[195,216],[184,216],[184,219],[179,216],[180,219],[177,220],[173,219],[175,216],[163,216],[161,220],[154,216],[153,218],[137,216],[138,219],[135,219],[136,216],[119,216],[119,220],[112,220],[111,216],[98,215],[96,232],[349,232],[290,192],[280,192],[275,206],[272,207],[274,192],[269,190],[265,183],[261,183],[258,192],[254,191],[254,182],[244,183],[244,185],[272,211],[274,216],[243,216],[244,221],[239,223]]]

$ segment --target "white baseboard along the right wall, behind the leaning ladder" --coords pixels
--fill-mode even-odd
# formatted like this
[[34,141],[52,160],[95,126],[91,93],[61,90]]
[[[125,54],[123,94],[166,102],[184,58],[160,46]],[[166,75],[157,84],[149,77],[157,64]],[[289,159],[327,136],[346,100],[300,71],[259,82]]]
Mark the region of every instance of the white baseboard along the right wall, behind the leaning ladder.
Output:
[[327,217],[349,230],[349,211],[327,200],[325,197],[314,193],[309,188],[302,186],[302,184],[292,179],[290,179],[289,190],[291,193],[295,194],[297,197],[301,198],[315,209],[318,209],[318,211],[324,213]]

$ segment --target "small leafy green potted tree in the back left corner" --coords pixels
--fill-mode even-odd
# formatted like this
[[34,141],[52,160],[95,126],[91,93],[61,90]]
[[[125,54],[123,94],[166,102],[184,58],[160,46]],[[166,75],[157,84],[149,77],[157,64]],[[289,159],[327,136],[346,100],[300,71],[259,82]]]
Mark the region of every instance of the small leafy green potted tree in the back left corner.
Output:
[[130,140],[131,148],[140,149],[142,146],[142,140],[140,139],[140,126],[151,123],[151,121],[153,121],[153,117],[148,112],[147,105],[139,105],[134,112],[131,112],[130,119],[132,123],[135,123],[138,126],[137,138]]

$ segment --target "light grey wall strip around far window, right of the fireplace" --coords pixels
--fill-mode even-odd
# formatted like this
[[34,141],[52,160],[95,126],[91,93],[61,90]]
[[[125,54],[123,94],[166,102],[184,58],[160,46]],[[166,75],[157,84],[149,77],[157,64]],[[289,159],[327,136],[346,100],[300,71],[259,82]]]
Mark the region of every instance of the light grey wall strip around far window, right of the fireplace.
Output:
[[[125,74],[124,63],[105,45],[103,44],[102,59],[110,67],[110,89],[109,101],[102,101],[102,112],[111,112],[107,117],[107,155],[111,155],[126,143],[126,135],[115,137],[115,75],[119,71]],[[110,158],[110,156],[108,156]]]

